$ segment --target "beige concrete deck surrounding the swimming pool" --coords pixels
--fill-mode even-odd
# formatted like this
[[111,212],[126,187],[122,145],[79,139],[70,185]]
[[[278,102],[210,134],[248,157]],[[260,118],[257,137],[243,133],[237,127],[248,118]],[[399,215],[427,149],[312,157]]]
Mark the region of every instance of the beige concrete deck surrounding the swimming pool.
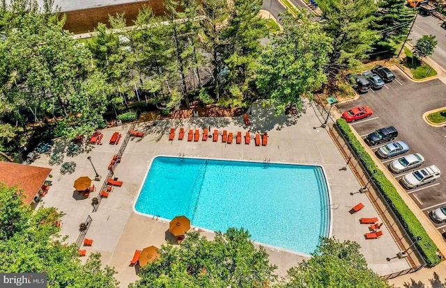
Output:
[[[109,145],[108,140],[114,133],[119,131],[125,136],[128,126],[104,129],[102,133],[103,145],[93,145],[93,150],[88,154],[80,154],[76,157],[65,157],[64,161],[75,161],[77,167],[71,175],[61,175],[60,166],[49,166],[48,156],[43,155],[35,166],[49,167],[52,170],[52,186],[49,193],[43,198],[45,206],[58,207],[59,211],[66,213],[63,216],[61,234],[68,235],[68,242],[75,242],[79,236],[79,223],[85,221],[88,215],[93,218],[86,237],[93,239],[91,247],[85,247],[87,256],[92,252],[100,252],[102,263],[114,266],[118,271],[116,278],[121,282],[121,287],[127,287],[131,282],[138,279],[135,267],[129,266],[134,250],[141,250],[146,246],[155,245],[160,247],[165,243],[169,233],[169,223],[157,218],[149,218],[134,213],[133,203],[137,200],[137,193],[141,187],[149,163],[157,155],[183,155],[185,157],[210,157],[219,159],[245,159],[251,161],[305,163],[310,165],[321,165],[327,173],[328,185],[331,190],[332,204],[332,237],[343,240],[353,240],[360,244],[361,252],[364,254],[369,268],[379,275],[387,275],[397,271],[408,269],[410,266],[406,259],[392,259],[387,262],[387,257],[393,257],[399,252],[397,244],[392,239],[386,227],[380,239],[364,239],[364,233],[369,232],[369,225],[361,225],[361,217],[376,217],[378,213],[367,198],[367,195],[355,193],[360,189],[360,184],[353,175],[350,168],[346,171],[339,170],[346,166],[336,145],[325,129],[313,127],[321,124],[318,120],[318,112],[312,106],[307,106],[306,113],[297,116],[275,117],[273,111],[268,109],[254,109],[250,116],[251,125],[245,127],[243,117],[236,118],[187,118],[176,120],[161,120],[157,122],[141,123],[135,130],[144,131],[144,138],[131,138],[122,157],[121,163],[116,166],[115,177],[123,181],[122,187],[115,187],[109,198],[102,199],[98,211],[92,212],[91,198],[98,195],[98,191],[90,198],[76,200],[76,192],[72,184],[80,176],[94,178],[94,171],[86,157],[90,156],[98,174],[102,177],[107,175],[107,166],[121,147]],[[213,129],[228,130],[236,134],[242,131],[245,134],[247,128],[250,131],[268,132],[268,145],[256,147],[254,141],[250,145],[237,145],[235,140],[232,144],[222,143],[221,140],[187,142],[187,131],[189,129],[202,129],[209,127]],[[176,138],[169,141],[169,128],[176,127]],[[184,127],[186,134],[183,141],[178,141],[178,128]],[[202,130],[201,130],[202,131]],[[253,139],[252,139],[253,140]],[[100,188],[102,182],[95,182]],[[355,214],[351,210],[358,202],[364,203],[364,209]],[[38,205],[42,205],[40,202]],[[277,227],[280,229],[281,227]],[[198,227],[196,228],[198,229]],[[203,236],[212,237],[211,232],[201,232]],[[84,247],[83,247],[84,249]],[[277,273],[286,275],[286,270],[295,266],[304,256],[289,253],[280,248],[266,248],[270,255],[270,262],[278,266]],[[86,259],[86,257],[84,257]]]

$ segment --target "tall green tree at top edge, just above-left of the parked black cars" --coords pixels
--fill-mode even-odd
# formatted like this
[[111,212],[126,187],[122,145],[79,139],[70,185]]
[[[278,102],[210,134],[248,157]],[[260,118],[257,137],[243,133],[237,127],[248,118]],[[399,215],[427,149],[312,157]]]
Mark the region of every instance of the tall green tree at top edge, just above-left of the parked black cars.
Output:
[[330,72],[359,64],[378,40],[374,0],[318,0],[324,30],[333,39]]

